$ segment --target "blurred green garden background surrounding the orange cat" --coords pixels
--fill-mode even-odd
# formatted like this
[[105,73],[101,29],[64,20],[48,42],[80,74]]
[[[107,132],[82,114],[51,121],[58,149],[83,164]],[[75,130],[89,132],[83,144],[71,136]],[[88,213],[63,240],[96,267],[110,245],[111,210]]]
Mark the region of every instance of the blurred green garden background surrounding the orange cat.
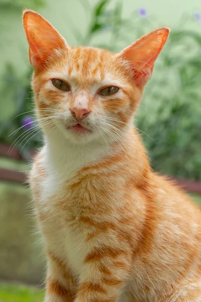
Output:
[[68,44],[120,51],[149,31],[171,34],[136,115],[152,167],[201,206],[199,0],[0,0],[0,302],[42,301],[45,261],[26,184],[42,144],[22,9],[37,10]]

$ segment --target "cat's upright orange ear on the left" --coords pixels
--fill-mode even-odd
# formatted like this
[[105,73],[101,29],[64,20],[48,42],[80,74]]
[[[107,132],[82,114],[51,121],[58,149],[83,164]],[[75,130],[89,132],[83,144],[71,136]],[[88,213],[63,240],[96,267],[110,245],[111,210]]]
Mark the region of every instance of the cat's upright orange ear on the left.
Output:
[[41,69],[56,50],[69,47],[52,25],[32,10],[24,10],[23,25],[29,43],[29,60],[36,69]]

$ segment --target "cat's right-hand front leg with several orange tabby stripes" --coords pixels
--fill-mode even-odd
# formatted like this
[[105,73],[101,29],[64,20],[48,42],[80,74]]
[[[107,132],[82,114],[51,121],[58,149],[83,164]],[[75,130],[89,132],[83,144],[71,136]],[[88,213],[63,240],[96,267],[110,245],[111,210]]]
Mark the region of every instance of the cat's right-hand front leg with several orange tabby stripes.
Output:
[[120,247],[94,248],[84,260],[75,302],[116,302],[131,269],[131,257]]

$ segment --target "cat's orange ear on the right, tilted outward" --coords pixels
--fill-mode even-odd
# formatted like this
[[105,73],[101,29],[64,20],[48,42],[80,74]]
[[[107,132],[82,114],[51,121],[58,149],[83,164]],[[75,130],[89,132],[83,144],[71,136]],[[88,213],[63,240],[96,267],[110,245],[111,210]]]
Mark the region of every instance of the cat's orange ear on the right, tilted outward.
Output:
[[141,37],[120,52],[120,56],[131,63],[135,83],[143,87],[151,78],[156,58],[167,41],[170,29],[158,28]]

